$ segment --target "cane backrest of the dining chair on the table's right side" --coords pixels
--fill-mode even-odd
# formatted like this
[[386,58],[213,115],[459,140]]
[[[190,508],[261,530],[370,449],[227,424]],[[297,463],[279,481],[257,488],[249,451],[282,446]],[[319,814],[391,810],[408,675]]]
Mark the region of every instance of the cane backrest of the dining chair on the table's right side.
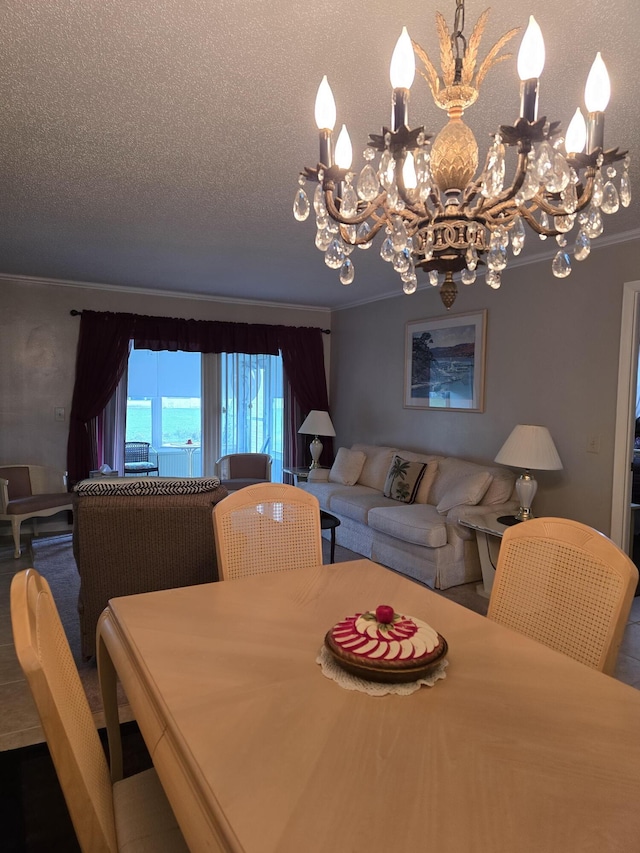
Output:
[[638,569],[578,521],[535,518],[502,538],[487,616],[613,675]]

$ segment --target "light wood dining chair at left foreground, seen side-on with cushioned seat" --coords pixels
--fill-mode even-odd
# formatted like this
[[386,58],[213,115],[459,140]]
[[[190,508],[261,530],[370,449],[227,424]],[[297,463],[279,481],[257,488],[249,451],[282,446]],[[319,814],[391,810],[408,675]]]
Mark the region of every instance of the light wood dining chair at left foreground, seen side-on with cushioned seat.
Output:
[[153,768],[111,781],[49,584],[35,569],[12,580],[11,623],[80,848],[188,851]]

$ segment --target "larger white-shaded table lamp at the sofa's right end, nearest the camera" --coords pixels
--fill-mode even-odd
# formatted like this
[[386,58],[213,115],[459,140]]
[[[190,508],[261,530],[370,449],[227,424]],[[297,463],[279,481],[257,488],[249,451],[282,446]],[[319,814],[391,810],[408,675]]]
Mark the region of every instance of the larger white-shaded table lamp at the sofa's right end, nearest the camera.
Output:
[[538,483],[529,469],[558,471],[562,468],[551,433],[546,427],[518,424],[500,448],[495,461],[501,465],[525,469],[516,480],[520,510],[515,516],[503,515],[498,521],[501,524],[515,524],[533,518],[531,504],[538,490]]

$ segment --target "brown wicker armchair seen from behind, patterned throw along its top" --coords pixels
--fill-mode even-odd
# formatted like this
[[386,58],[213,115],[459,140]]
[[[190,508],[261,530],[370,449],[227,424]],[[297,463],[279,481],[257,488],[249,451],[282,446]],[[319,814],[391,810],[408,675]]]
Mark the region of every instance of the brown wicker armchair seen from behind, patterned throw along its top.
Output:
[[[192,494],[140,493],[167,482],[212,485]],[[82,493],[92,487],[106,493]],[[110,598],[218,579],[211,512],[226,495],[218,480],[197,478],[114,478],[76,486],[73,553],[85,659],[95,654],[96,625]]]

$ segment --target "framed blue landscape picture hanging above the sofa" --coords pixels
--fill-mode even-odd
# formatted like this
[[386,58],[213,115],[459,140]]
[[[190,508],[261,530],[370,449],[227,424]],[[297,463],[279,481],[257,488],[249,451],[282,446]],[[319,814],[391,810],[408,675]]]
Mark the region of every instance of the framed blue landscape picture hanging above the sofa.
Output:
[[484,411],[486,310],[407,323],[404,406]]

